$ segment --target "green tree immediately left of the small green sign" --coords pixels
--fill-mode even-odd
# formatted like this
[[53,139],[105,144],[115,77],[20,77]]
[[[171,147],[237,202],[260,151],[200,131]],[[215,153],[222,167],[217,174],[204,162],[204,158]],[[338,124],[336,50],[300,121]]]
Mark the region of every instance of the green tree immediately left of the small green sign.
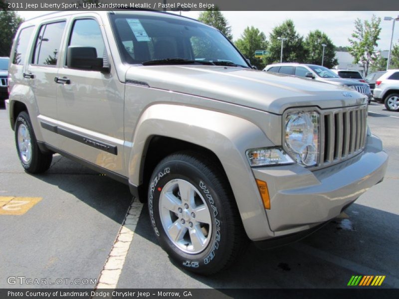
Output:
[[262,59],[255,57],[256,50],[266,50],[266,35],[253,26],[246,27],[241,37],[235,41],[235,46],[258,69],[264,68]]

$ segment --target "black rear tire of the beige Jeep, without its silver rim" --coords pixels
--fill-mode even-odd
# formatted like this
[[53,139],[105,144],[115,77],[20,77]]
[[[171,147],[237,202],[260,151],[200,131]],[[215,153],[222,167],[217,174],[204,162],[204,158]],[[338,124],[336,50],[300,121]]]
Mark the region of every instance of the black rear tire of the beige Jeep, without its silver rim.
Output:
[[[31,154],[30,158],[28,159],[23,158],[23,154],[21,154],[21,149],[18,145],[18,130],[21,126],[24,126],[24,128],[26,128],[26,134],[30,137]],[[50,167],[53,155],[51,153],[43,153],[40,151],[37,145],[36,137],[33,132],[33,127],[30,122],[29,115],[25,111],[19,113],[18,117],[16,118],[14,131],[15,146],[18,152],[18,158],[25,171],[29,173],[41,173],[46,171]]]

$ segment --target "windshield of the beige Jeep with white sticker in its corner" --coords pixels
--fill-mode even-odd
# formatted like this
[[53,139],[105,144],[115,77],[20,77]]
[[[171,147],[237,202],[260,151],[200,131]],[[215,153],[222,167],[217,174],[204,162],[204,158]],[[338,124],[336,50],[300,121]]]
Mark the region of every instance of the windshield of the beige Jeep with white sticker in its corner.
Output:
[[110,18],[125,63],[142,64],[151,61],[154,63],[145,65],[180,64],[185,59],[193,63],[249,68],[226,37],[200,22],[162,13],[150,16],[111,14]]

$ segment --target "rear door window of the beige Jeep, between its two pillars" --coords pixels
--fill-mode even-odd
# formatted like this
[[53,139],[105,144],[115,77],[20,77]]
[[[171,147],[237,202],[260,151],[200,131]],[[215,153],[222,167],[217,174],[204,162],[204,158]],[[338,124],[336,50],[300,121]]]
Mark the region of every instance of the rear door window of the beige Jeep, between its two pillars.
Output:
[[65,22],[44,24],[36,38],[33,64],[56,65]]

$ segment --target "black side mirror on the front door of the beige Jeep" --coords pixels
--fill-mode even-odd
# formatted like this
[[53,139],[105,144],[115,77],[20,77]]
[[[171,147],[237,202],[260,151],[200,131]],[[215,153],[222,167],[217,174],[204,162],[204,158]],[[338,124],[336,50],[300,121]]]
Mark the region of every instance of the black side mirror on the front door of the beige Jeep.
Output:
[[104,66],[104,59],[97,57],[97,51],[94,47],[76,47],[69,46],[66,52],[66,65],[68,68],[101,71],[109,73],[109,66]]

